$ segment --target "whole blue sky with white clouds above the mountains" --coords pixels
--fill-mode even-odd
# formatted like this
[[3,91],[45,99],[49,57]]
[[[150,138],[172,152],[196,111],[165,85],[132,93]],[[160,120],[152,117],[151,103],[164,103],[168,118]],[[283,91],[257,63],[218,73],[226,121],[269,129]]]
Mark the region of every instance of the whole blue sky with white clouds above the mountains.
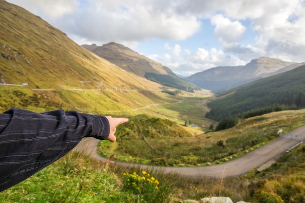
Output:
[[77,44],[123,44],[189,76],[262,56],[305,62],[305,0],[6,0]]

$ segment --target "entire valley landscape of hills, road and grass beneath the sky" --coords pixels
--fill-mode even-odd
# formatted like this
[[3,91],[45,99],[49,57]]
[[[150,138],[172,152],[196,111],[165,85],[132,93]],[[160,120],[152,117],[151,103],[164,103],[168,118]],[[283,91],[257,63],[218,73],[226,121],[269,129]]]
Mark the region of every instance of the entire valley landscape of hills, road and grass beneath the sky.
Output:
[[[145,168],[160,182],[153,194],[172,189],[163,202],[212,195],[260,202],[266,192],[304,203],[304,132],[293,131],[305,126],[304,70],[304,63],[261,57],[195,74],[192,84],[123,45],[79,46],[0,0],[1,112],[64,109],[129,118],[117,127],[117,142],[83,139],[1,192],[0,202],[152,202],[123,185],[126,172]],[[215,131],[228,118],[234,125]],[[271,166],[257,170],[270,159]]]

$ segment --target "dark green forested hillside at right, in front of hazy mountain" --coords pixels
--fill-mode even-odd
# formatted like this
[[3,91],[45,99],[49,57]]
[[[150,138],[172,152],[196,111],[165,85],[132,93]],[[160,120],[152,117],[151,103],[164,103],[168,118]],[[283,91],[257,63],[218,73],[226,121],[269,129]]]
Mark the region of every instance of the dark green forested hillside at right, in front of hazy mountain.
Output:
[[305,65],[234,89],[208,103],[206,117],[220,121],[238,113],[272,105],[305,107]]

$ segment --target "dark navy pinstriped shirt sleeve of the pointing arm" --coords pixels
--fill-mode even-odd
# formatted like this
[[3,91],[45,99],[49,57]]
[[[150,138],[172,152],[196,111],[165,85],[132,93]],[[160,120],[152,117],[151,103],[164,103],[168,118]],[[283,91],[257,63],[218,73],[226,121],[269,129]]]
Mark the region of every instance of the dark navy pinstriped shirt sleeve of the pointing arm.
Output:
[[0,191],[55,162],[83,137],[106,139],[108,135],[104,116],[63,110],[0,113]]

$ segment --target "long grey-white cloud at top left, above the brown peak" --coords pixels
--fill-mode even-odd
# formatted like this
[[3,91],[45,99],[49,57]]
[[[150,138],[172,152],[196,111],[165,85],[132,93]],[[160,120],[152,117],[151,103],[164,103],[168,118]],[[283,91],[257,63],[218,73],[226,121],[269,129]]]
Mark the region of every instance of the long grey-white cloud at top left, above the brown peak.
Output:
[[82,41],[183,40],[196,33],[200,19],[175,12],[162,0],[9,0]]

